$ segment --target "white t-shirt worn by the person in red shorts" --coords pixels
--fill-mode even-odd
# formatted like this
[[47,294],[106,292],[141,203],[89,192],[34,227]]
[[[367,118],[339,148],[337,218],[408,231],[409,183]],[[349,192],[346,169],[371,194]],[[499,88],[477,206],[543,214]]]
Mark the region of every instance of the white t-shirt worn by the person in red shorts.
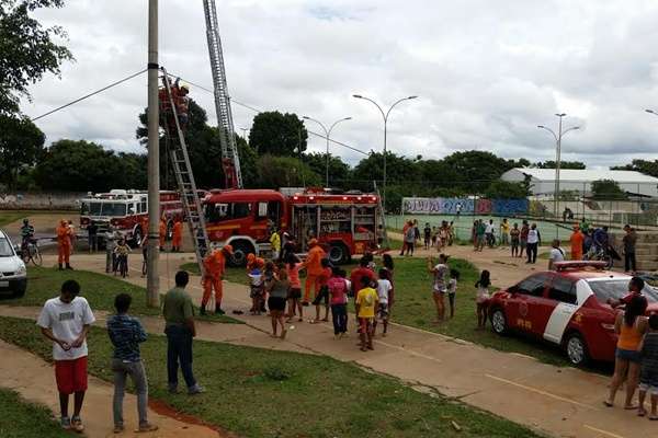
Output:
[[[56,338],[71,344],[82,333],[84,325],[93,324],[95,318],[91,312],[89,302],[83,297],[76,297],[69,303],[63,302],[59,297],[52,298],[44,304],[36,325],[53,330]],[[53,359],[73,360],[87,356],[87,341],[78,348],[65,351],[59,344],[53,343]]]

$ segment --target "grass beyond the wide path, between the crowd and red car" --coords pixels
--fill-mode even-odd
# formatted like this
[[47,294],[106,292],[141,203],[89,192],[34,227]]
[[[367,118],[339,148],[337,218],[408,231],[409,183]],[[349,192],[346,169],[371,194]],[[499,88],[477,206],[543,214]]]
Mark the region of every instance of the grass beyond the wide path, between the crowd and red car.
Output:
[[[434,261],[436,261],[435,257]],[[381,261],[376,262],[381,266]],[[523,337],[499,336],[490,330],[475,330],[477,325],[475,283],[479,277],[479,270],[461,258],[451,258],[449,265],[461,274],[455,297],[455,318],[441,325],[434,325],[432,321],[435,320],[436,310],[431,296],[433,277],[427,270],[427,258],[395,258],[396,303],[392,312],[392,321],[469,341],[501,351],[533,356],[546,364],[569,365],[560,349],[554,345]],[[355,265],[343,266],[348,273],[354,267]],[[181,269],[198,273],[195,263],[181,265]],[[304,278],[304,273],[300,277]],[[225,279],[242,285],[248,284],[243,268],[227,268]],[[447,298],[445,304],[447,306]]]

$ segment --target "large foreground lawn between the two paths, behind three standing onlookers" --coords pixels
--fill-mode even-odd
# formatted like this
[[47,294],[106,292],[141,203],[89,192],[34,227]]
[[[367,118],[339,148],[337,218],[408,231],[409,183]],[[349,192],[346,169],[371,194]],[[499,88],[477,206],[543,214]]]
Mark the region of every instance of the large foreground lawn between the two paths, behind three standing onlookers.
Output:
[[[32,321],[0,319],[0,337],[50,356]],[[150,336],[143,358],[152,399],[241,437],[537,437],[509,420],[325,356],[195,342],[194,371],[207,393],[167,391],[166,339]],[[89,370],[112,379],[111,346],[94,327]],[[456,422],[462,431],[451,425]]]

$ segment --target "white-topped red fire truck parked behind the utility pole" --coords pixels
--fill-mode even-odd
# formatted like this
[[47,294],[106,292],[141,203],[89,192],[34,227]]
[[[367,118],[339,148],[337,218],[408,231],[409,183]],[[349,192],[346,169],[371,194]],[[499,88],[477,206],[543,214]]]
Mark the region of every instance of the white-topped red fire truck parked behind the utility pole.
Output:
[[[80,229],[87,229],[94,222],[102,237],[112,226],[132,244],[137,244],[146,233],[141,224],[148,218],[147,211],[147,192],[112,189],[110,193],[89,194],[80,199]],[[160,191],[160,216],[164,216],[169,232],[175,220],[183,219],[183,205],[178,192]]]

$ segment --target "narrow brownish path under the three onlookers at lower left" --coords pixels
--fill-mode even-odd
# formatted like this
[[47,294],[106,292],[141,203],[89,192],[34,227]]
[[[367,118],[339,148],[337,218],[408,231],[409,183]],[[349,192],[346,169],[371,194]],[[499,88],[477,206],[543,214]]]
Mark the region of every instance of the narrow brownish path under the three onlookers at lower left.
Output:
[[[53,413],[59,412],[59,399],[55,383],[53,366],[41,358],[14,345],[0,341],[0,384],[16,391],[30,402],[48,406]],[[206,426],[184,423],[170,416],[160,415],[149,408],[149,420],[159,426],[159,430],[149,434],[136,434],[137,399],[126,394],[124,400],[124,419],[126,431],[113,434],[112,394],[113,387],[100,379],[89,377],[89,390],[84,396],[82,420],[84,435],[91,438],[103,437],[152,437],[152,438],[218,438],[227,437]],[[70,406],[72,408],[72,397]],[[58,414],[55,414],[58,415]]]

